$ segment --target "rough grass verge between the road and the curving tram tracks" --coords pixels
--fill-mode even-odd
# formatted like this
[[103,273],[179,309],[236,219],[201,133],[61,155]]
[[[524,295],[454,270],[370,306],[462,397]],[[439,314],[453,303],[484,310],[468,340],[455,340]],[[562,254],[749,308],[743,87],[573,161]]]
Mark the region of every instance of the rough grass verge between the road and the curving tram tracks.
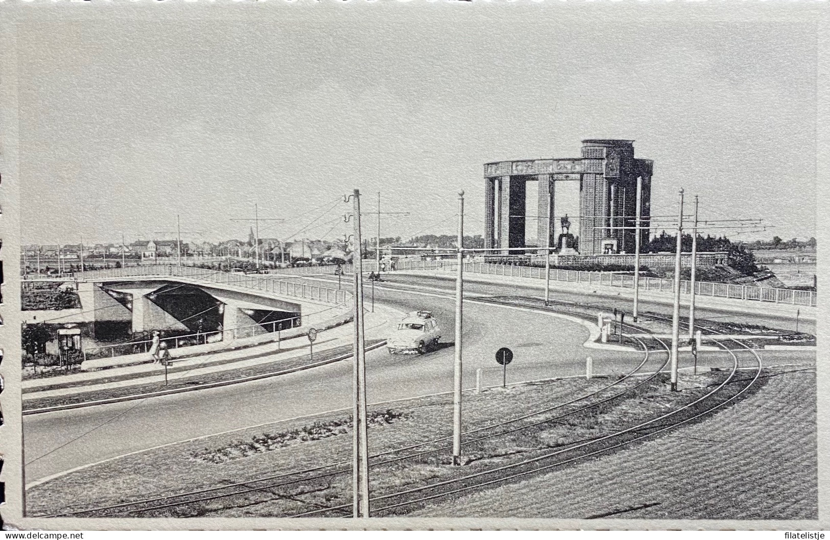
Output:
[[[710,391],[725,373],[711,372],[686,382],[683,392],[669,392],[666,378],[657,377],[637,391],[628,392],[602,406],[576,411],[539,426],[465,445],[464,467],[450,465],[451,450],[372,467],[373,495],[432,484],[494,466],[544,455],[575,442],[613,433],[656,418]],[[690,384],[691,382],[691,384]],[[465,396],[466,429],[486,426],[569,401],[600,387],[608,379],[566,379]],[[633,382],[623,382],[630,387]],[[759,385],[760,386],[760,385]],[[603,394],[604,396],[610,395]],[[726,392],[731,394],[731,392]],[[715,397],[715,401],[725,397]],[[707,401],[707,405],[710,401]],[[579,405],[583,405],[580,403]],[[579,405],[552,411],[545,417],[574,411]],[[696,409],[686,413],[691,416]],[[432,396],[370,407],[374,415],[393,418],[369,428],[369,452],[377,454],[402,446],[450,435],[452,396]],[[535,417],[529,421],[539,421]],[[522,424],[513,424],[515,427]],[[336,426],[333,429],[331,426]],[[505,429],[505,428],[502,428]],[[332,435],[331,432],[334,431]],[[290,433],[300,435],[286,435]],[[175,494],[188,489],[213,487],[330,463],[344,462],[344,474],[308,480],[274,489],[259,489],[232,498],[203,501],[182,508],[168,508],[140,515],[151,516],[286,516],[307,510],[350,504],[352,438],[346,411],[276,423],[267,428],[216,435],[158,450],[130,455],[68,474],[30,490],[27,501],[32,515],[90,508]],[[316,434],[316,435],[315,435]],[[287,441],[287,442],[286,442]],[[285,444],[283,444],[285,443]],[[447,445],[444,441],[442,445]],[[230,450],[229,450],[230,449]],[[233,450],[236,449],[236,450]],[[253,450],[251,450],[253,449]],[[412,452],[413,450],[409,450]],[[210,459],[230,455],[231,459]],[[165,474],[154,471],[164,470]],[[268,484],[253,484],[265,488]],[[413,508],[402,508],[407,512]]]

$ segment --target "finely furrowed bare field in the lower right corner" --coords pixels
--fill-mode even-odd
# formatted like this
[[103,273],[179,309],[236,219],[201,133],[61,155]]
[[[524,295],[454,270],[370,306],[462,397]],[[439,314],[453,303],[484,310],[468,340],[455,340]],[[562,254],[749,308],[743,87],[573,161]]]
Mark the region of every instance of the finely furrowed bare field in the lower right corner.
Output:
[[694,426],[413,515],[815,519],[816,437],[815,372],[779,370]]

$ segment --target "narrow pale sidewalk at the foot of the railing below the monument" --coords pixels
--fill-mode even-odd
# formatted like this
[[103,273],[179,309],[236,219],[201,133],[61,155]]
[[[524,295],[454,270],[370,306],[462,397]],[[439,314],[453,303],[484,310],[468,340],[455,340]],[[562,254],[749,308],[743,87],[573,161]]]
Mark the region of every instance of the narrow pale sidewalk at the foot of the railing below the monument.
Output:
[[[427,275],[432,277],[447,277],[452,275],[449,271],[435,271],[435,270],[395,270],[394,274],[400,275]],[[464,275],[464,280],[476,283],[494,283],[494,284],[508,284],[521,285],[525,287],[532,287],[534,289],[544,290],[544,280],[538,278],[525,278],[511,275],[494,275],[494,274],[478,274],[475,272],[467,272]],[[584,292],[586,294],[603,294],[606,296],[618,296],[621,298],[634,298],[634,289],[625,287],[610,287],[608,285],[599,285],[597,283],[588,284],[580,281],[558,281],[550,280],[551,290],[565,290],[568,292]],[[671,305],[673,299],[671,294],[656,293],[640,289],[640,299],[649,302],[656,302],[658,304]],[[689,303],[689,295],[681,294],[681,305]],[[774,302],[762,302],[759,300],[742,300],[723,298],[718,296],[706,296],[696,294],[695,305],[698,308],[709,309],[723,309],[725,311],[740,312],[747,314],[757,314],[759,311],[764,314],[775,315],[779,317],[788,317],[795,319],[796,313],[800,312],[798,316],[801,319],[816,319],[816,308],[813,306],[796,305],[796,304],[775,304]]]

